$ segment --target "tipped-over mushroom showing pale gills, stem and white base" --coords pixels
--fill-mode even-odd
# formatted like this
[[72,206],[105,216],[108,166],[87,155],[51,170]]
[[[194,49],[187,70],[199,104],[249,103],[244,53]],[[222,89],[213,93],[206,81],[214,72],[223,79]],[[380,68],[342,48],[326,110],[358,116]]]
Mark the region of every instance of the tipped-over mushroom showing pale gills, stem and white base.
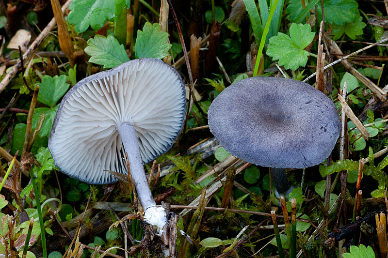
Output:
[[149,189],[143,163],[167,152],[181,131],[186,95],[178,72],[151,58],[123,63],[79,81],[55,116],[49,150],[55,165],[83,182],[117,180],[106,170],[130,174],[145,211],[158,227],[166,222]]

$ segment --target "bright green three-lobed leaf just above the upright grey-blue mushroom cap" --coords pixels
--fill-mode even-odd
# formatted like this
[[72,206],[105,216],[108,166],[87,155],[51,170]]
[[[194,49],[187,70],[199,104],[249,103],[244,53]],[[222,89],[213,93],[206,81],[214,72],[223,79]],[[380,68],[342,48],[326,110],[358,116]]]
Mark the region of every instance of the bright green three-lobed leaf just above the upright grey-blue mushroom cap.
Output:
[[279,32],[270,38],[267,55],[273,60],[279,60],[279,65],[295,71],[299,66],[306,65],[308,52],[304,48],[312,42],[314,35],[308,24],[292,23],[290,36]]

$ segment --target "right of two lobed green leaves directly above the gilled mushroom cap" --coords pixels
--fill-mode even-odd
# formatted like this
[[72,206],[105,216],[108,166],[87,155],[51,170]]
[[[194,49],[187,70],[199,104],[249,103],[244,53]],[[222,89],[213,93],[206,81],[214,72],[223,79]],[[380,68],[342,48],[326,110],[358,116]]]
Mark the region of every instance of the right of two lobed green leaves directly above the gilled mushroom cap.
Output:
[[137,31],[135,43],[136,58],[163,59],[167,56],[171,44],[168,43],[168,33],[161,31],[159,23],[146,22],[143,31]]

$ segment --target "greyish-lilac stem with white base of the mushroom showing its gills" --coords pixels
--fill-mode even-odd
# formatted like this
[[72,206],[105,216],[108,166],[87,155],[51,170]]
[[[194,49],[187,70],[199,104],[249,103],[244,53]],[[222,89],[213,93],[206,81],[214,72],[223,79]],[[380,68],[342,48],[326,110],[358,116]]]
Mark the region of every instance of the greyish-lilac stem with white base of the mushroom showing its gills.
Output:
[[158,233],[162,233],[162,228],[166,223],[166,213],[162,207],[157,207],[151,190],[149,189],[146,173],[140,148],[136,136],[136,131],[130,123],[121,123],[117,127],[123,142],[124,149],[128,153],[130,174],[135,183],[137,196],[144,209],[146,222],[158,227]]

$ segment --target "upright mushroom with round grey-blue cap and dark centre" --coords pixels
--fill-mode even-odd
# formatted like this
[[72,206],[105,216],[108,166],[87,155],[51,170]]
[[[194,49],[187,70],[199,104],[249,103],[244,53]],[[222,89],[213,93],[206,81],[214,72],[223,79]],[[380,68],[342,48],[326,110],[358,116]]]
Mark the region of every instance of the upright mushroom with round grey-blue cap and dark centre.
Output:
[[287,78],[240,80],[214,99],[208,114],[210,131],[226,151],[272,168],[279,194],[289,189],[284,168],[320,164],[340,131],[333,102],[307,83]]

